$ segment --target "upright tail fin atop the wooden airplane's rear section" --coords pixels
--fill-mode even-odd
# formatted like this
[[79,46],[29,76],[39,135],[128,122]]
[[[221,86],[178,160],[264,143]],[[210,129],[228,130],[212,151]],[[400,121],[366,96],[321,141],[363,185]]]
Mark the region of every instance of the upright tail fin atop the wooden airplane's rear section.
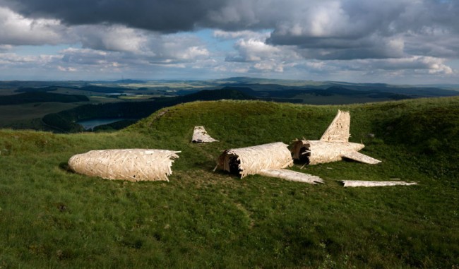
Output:
[[349,126],[351,116],[349,112],[338,110],[335,119],[328,126],[325,133],[321,137],[321,141],[327,142],[348,142],[349,141]]

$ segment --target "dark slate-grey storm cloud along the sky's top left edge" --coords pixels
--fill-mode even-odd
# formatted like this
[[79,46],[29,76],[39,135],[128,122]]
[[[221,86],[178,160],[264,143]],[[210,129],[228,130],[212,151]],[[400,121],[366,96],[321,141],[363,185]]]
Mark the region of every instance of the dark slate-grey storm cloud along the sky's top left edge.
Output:
[[225,6],[222,0],[5,0],[30,18],[55,18],[67,25],[121,24],[158,32],[193,30]]

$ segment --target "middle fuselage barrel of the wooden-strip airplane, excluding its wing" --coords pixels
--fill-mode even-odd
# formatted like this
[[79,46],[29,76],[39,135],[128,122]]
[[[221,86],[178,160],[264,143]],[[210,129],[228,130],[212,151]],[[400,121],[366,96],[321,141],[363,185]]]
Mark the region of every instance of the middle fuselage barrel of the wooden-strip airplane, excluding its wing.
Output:
[[241,178],[259,174],[262,169],[282,169],[293,165],[287,145],[282,142],[225,150],[218,158],[217,167],[230,172],[229,160],[237,157]]

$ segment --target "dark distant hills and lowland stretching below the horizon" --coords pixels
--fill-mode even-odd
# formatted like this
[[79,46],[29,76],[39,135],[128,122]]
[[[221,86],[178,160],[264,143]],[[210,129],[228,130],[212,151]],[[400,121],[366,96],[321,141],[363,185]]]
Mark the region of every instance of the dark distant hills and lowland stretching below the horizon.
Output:
[[[459,85],[457,86],[456,88],[455,85],[434,87],[244,77],[219,80],[0,81],[0,105],[81,103],[72,109],[46,114],[39,122],[39,125],[45,124],[44,127],[27,126],[73,132],[82,131],[82,127],[76,124],[76,121],[95,118],[141,119],[157,109],[198,100],[355,104],[419,97],[458,96]],[[20,93],[6,95],[1,92],[2,90]],[[122,95],[138,95],[141,99],[122,98]],[[149,97],[151,98],[148,99]],[[41,109],[40,106],[34,107]],[[37,124],[37,121],[33,124]]]

